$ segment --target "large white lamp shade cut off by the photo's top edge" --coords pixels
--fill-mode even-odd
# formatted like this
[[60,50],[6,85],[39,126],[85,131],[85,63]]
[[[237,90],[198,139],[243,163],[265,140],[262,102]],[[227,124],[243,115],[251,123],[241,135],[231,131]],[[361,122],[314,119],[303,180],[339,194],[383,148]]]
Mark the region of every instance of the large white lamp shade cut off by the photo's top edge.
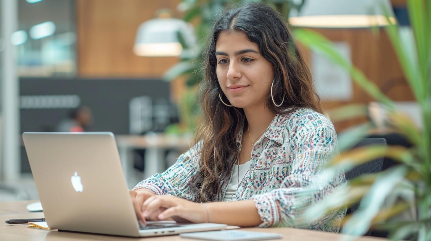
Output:
[[306,0],[301,11],[292,9],[289,23],[305,28],[369,28],[396,23],[389,0]]

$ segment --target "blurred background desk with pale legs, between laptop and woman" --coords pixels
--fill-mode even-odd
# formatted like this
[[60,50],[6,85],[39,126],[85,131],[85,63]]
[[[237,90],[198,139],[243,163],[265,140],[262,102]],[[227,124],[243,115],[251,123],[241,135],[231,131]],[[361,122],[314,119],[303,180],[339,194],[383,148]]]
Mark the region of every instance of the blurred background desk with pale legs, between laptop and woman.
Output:
[[[165,151],[176,149],[180,152],[190,149],[190,137],[172,136],[162,133],[137,135],[116,135],[115,136],[124,176],[128,188],[133,188],[137,184],[134,180],[134,153],[136,149],[145,149],[145,168],[142,179],[146,179],[155,173],[161,173],[166,169]],[[141,181],[139,180],[139,181]]]

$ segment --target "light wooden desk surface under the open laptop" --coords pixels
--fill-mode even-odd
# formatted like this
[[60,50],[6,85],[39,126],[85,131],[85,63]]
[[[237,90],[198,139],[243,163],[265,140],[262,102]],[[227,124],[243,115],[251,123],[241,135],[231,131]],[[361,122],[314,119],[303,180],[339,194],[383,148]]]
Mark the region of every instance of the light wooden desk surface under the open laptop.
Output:
[[[6,224],[4,221],[7,219],[22,219],[22,218],[42,218],[43,213],[30,213],[26,210],[26,205],[33,201],[16,201],[16,202],[0,202],[0,239],[8,241],[25,241],[25,240],[46,240],[46,241],[72,241],[72,240],[145,240],[145,241],[192,241],[196,239],[180,238],[178,235],[173,236],[161,236],[152,238],[125,238],[108,235],[92,235],[84,233],[72,233],[72,232],[58,232],[56,230],[43,230],[43,229],[31,229],[28,228],[28,224]],[[241,229],[245,231],[256,231],[256,232],[271,232],[279,233],[283,235],[283,239],[288,241],[296,240],[317,240],[317,241],[337,241],[341,240],[343,235],[319,232],[306,229],[290,229],[290,228],[247,228]],[[280,239],[278,239],[280,240]],[[384,240],[381,238],[372,237],[361,237],[359,241],[378,241]]]

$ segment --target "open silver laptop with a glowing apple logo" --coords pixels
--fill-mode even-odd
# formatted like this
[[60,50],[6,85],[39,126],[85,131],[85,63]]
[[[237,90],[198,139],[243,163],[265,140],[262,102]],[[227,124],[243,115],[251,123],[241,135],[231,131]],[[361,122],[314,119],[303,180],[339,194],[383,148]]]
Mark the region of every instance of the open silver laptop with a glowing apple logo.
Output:
[[149,222],[141,227],[110,132],[24,133],[22,137],[50,229],[139,237],[227,227],[176,222]]

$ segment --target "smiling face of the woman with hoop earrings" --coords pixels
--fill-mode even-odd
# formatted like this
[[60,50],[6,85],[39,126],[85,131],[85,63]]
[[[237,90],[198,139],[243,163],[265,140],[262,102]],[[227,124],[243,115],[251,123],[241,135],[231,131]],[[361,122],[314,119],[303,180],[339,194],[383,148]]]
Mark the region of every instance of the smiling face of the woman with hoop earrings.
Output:
[[223,31],[215,43],[215,57],[217,79],[231,105],[265,106],[274,73],[256,43],[243,31]]

